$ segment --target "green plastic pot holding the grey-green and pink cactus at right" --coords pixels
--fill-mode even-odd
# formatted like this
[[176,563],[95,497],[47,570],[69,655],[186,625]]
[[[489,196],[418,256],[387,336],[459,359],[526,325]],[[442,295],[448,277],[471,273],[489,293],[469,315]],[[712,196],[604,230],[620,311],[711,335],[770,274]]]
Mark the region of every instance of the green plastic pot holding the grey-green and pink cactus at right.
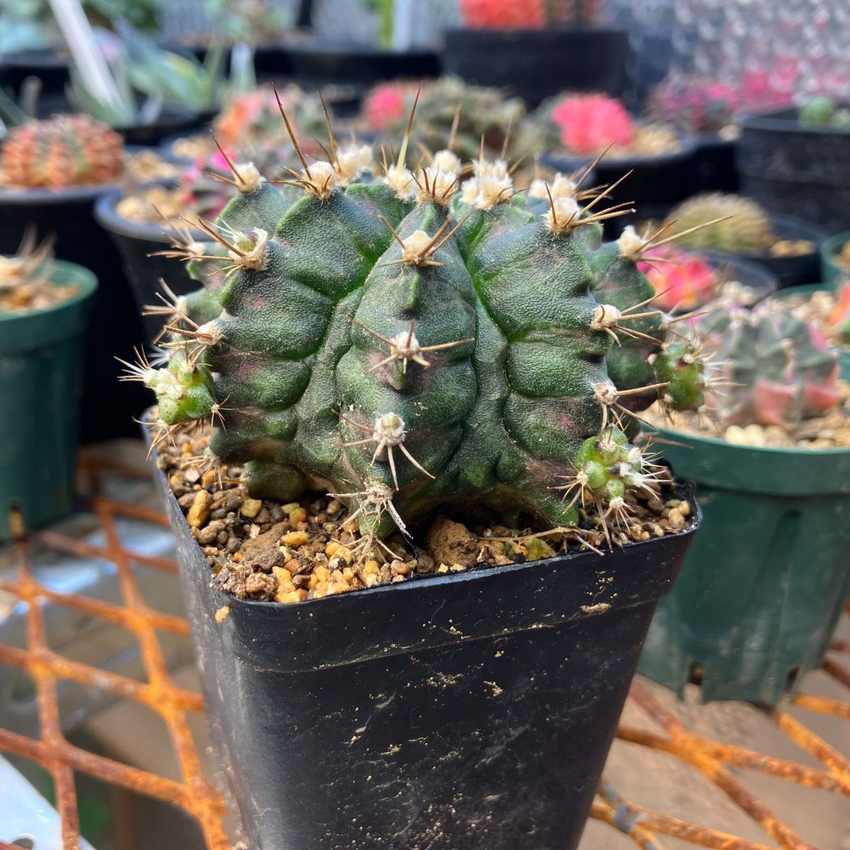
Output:
[[774,706],[820,666],[850,590],[850,449],[756,448],[659,429],[704,520],[639,670],[703,700]]

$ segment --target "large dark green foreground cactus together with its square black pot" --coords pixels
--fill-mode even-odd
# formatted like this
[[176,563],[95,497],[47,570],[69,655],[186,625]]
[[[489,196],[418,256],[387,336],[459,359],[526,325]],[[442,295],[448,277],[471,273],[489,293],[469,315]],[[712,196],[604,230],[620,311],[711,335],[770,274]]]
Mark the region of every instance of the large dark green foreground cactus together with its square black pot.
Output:
[[[559,176],[526,198],[505,161],[464,169],[438,150],[409,170],[408,142],[387,167],[331,143],[281,184],[235,162],[238,194],[201,222],[207,243],[174,252],[203,286],[163,304],[161,360],[127,377],[156,392],[150,439],[252,843],[321,847],[329,833],[356,847],[402,829],[422,843],[429,807],[451,800],[452,846],[573,848],[697,514],[629,435],[655,401],[698,408],[712,379],[683,324],[649,306],[638,263],[655,241],[603,244],[622,212],[610,190]],[[197,490],[173,491],[187,468]],[[660,517],[665,498],[681,507],[675,533],[634,535],[636,512]],[[478,534],[450,516],[482,512],[500,552],[535,529],[525,548],[479,562]],[[231,529],[238,547],[252,518],[239,551],[203,542]],[[426,552],[437,526],[445,558]],[[459,536],[476,569],[456,563]],[[405,547],[416,558],[402,563]],[[433,681],[462,687],[428,694]],[[381,722],[352,733],[369,706]],[[243,745],[261,717],[275,745]],[[570,769],[549,758],[580,741]],[[427,803],[411,819],[402,797],[364,801],[366,781],[411,783]],[[471,836],[480,801],[505,794],[516,801]]]

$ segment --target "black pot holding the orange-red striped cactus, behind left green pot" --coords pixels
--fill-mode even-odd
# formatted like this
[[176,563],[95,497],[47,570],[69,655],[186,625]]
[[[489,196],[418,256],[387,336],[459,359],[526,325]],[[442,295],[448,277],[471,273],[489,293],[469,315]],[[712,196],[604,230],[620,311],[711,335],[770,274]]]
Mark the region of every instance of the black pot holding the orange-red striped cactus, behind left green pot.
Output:
[[150,403],[136,382],[119,382],[115,358],[133,360],[141,339],[139,314],[121,260],[94,221],[94,201],[104,186],[0,192],[0,253],[17,251],[28,227],[38,238],[56,236],[56,257],[90,269],[99,280],[84,342],[81,439],[136,436],[133,416]]

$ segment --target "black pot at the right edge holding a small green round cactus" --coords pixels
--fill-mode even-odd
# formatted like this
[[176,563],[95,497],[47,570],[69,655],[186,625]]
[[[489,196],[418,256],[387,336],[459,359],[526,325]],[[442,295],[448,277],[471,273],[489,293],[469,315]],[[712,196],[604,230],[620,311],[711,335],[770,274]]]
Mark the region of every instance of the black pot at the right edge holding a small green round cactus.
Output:
[[801,127],[796,109],[746,116],[738,145],[741,190],[772,212],[850,229],[850,133]]

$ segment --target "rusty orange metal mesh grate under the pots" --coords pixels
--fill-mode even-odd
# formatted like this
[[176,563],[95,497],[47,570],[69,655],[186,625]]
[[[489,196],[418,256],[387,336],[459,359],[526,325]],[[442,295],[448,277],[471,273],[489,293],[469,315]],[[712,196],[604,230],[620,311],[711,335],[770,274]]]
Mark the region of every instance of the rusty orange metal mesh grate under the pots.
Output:
[[[161,528],[167,526],[167,519],[156,510],[135,502],[117,500],[106,492],[105,482],[111,476],[147,479],[149,476],[143,466],[133,463],[122,465],[95,453],[83,458],[82,475],[88,483],[85,498],[99,523],[103,545],[82,541],[59,530],[38,532],[32,541],[22,540],[14,544],[17,575],[10,581],[0,581],[0,591],[11,594],[18,603],[26,606],[26,648],[0,643],[0,664],[26,671],[35,683],[40,728],[40,734],[32,737],[0,728],[0,755],[12,754],[37,762],[52,776],[65,850],[77,850],[80,846],[75,773],[88,774],[111,785],[178,806],[200,826],[209,850],[227,850],[231,842],[225,828],[227,811],[224,797],[202,773],[195,741],[187,723],[190,712],[202,711],[201,697],[178,687],[169,676],[156,634],[160,630],[187,638],[188,625],[179,617],[163,614],[145,604],[133,570],[133,564],[142,564],[161,571],[163,581],[175,581],[176,564],[167,558],[127,548],[116,521],[129,517]],[[122,604],[111,604],[77,593],[57,592],[38,581],[32,569],[34,547],[31,543],[37,543],[39,550],[111,561],[116,567]],[[65,606],[132,632],[139,644],[144,680],[136,681],[71,660],[51,649],[45,634],[46,605]],[[825,662],[823,670],[834,683],[850,692],[850,668],[844,666],[844,660],[850,658],[850,643],[836,641],[833,650],[834,655]],[[842,656],[844,660],[838,660]],[[167,779],[72,745],[62,731],[57,699],[59,683],[65,681],[96,687],[122,700],[134,700],[161,717],[178,760],[181,779]],[[643,808],[604,781],[594,803],[592,817],[619,830],[643,850],[667,850],[664,843],[667,837],[676,839],[677,847],[682,846],[680,842],[685,842],[717,850],[817,850],[786,825],[778,813],[771,811],[748,791],[743,781],[734,775],[735,768],[757,771],[826,794],[850,797],[850,759],[789,711],[777,710],[766,714],[766,717],[787,740],[816,759],[819,768],[697,734],[674,717],[642,683],[633,685],[630,701],[632,708],[639,708],[643,716],[653,722],[654,729],[648,731],[621,723],[617,738],[631,745],[666,753],[688,764],[759,825],[765,836],[762,842],[757,842]],[[850,701],[802,693],[796,696],[794,703],[800,709],[850,721]],[[652,782],[651,775],[647,782]],[[20,850],[20,847],[0,841],[0,850]]]

